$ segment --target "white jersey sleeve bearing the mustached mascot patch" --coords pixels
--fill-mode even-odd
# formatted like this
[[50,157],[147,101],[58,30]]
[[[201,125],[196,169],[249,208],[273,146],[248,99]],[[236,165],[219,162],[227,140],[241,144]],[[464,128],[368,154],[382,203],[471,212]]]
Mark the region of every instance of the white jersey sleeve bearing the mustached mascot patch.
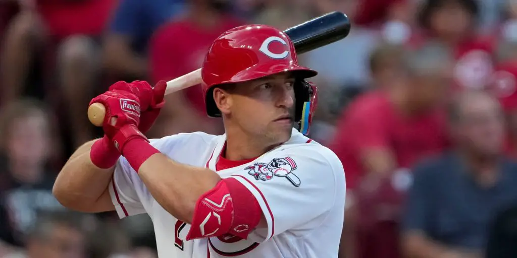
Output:
[[267,228],[250,233],[259,243],[287,230],[308,233],[325,222],[337,198],[345,198],[343,166],[325,147],[294,148],[265,161],[230,177],[244,185],[261,207]]

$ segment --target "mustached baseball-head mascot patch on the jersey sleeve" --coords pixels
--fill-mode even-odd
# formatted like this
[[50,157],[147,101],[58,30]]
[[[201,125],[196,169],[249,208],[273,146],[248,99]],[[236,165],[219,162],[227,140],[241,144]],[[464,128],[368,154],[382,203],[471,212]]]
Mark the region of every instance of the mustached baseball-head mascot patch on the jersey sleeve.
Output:
[[255,163],[248,166],[248,174],[253,175],[255,180],[267,181],[273,176],[286,178],[291,184],[298,187],[301,182],[297,175],[293,173],[298,167],[291,157],[273,158],[269,163]]

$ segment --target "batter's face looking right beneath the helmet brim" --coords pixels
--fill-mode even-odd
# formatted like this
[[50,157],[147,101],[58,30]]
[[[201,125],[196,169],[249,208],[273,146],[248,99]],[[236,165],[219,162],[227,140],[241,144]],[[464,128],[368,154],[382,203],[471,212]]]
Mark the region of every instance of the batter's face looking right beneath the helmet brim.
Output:
[[268,143],[287,141],[294,125],[294,82],[283,73],[236,85],[231,94],[232,120]]

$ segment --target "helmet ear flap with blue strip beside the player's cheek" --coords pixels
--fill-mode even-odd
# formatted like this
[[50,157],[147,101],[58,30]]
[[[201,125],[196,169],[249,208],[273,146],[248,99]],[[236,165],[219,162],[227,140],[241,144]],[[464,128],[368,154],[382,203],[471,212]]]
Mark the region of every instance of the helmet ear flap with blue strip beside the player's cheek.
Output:
[[313,111],[317,105],[317,87],[306,80],[297,80],[294,85],[296,97],[295,122],[298,131],[308,135]]

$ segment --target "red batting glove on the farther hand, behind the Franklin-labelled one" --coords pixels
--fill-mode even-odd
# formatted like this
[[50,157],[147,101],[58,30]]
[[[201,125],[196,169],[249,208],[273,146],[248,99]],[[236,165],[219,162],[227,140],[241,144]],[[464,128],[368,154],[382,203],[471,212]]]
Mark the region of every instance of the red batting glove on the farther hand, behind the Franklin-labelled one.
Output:
[[128,91],[139,98],[142,114],[138,128],[140,132],[145,134],[155,123],[156,118],[160,114],[161,107],[165,103],[163,97],[166,87],[167,83],[164,80],[160,80],[155,87],[151,87],[149,83],[143,80],[135,80],[131,83],[117,82],[110,87],[110,90]]

